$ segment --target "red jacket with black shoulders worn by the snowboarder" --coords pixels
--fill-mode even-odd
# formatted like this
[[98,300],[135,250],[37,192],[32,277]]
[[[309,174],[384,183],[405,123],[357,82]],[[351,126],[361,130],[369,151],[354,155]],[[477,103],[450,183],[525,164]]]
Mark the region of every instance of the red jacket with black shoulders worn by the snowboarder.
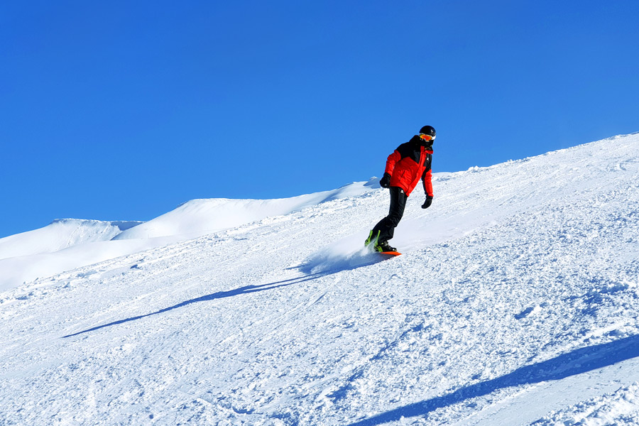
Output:
[[424,192],[432,197],[432,149],[420,143],[419,136],[402,143],[386,160],[385,173],[391,175],[391,186],[400,187],[408,197],[417,183],[424,182]]

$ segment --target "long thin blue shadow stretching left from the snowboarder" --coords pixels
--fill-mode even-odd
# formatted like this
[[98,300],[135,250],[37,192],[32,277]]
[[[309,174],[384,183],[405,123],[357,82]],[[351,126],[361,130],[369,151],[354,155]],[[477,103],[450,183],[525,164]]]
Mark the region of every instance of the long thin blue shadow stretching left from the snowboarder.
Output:
[[103,329],[105,327],[111,327],[111,326],[118,325],[118,324],[124,324],[126,322],[140,320],[141,318],[151,317],[152,315],[162,314],[162,313],[168,312],[170,310],[178,309],[179,307],[184,307],[184,306],[187,306],[187,305],[191,305],[192,303],[209,302],[211,300],[223,299],[224,297],[234,297],[234,296],[239,296],[239,295],[246,295],[246,294],[249,294],[249,293],[256,293],[258,291],[273,290],[275,288],[282,288],[282,287],[286,287],[288,285],[293,285],[293,284],[303,283],[305,281],[315,280],[317,278],[321,278],[321,277],[323,277],[325,275],[330,275],[332,273],[334,273],[334,272],[314,273],[314,274],[310,274],[310,275],[304,275],[302,277],[290,278],[288,280],[276,281],[275,283],[260,284],[260,285],[245,285],[244,287],[236,288],[234,290],[218,291],[218,292],[212,293],[210,295],[205,295],[205,296],[202,296],[202,297],[196,297],[195,299],[186,300],[185,302],[180,302],[177,305],[173,305],[173,306],[170,306],[170,307],[165,307],[164,309],[160,309],[158,311],[151,312],[151,313],[148,313],[148,314],[138,315],[137,317],[130,317],[130,318],[126,318],[124,320],[118,320],[118,321],[114,321],[114,322],[109,322],[108,324],[102,324],[102,325],[99,325],[97,327],[92,327],[90,329],[82,330],[82,332],[77,332],[77,333],[73,333],[73,334],[67,334],[66,336],[62,336],[62,339],[66,339],[67,337],[78,336],[80,334],[84,334],[84,333],[88,333],[88,332],[94,332],[96,330]]

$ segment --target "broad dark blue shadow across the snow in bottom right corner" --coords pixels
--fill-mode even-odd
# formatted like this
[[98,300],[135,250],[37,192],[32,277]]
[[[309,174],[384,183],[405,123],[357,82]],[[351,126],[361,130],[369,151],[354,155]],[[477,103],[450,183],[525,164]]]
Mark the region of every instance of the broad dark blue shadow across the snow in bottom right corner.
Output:
[[639,356],[639,335],[610,343],[575,349],[553,359],[518,368],[512,373],[506,374],[506,376],[459,388],[452,393],[423,400],[419,403],[404,405],[386,413],[351,423],[349,426],[382,425],[383,423],[400,420],[401,417],[427,416],[437,410],[437,408],[461,403],[469,398],[487,395],[498,389],[559,380],[586,373],[586,371],[596,370],[597,368],[611,366],[636,356]]

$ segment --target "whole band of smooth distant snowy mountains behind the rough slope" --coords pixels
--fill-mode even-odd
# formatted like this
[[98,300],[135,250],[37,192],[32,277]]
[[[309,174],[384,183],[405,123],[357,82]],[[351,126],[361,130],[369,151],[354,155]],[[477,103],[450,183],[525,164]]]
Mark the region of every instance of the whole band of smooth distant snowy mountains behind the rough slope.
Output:
[[191,200],[149,222],[58,219],[0,239],[0,291],[119,256],[194,239],[378,188],[377,178],[278,200]]

